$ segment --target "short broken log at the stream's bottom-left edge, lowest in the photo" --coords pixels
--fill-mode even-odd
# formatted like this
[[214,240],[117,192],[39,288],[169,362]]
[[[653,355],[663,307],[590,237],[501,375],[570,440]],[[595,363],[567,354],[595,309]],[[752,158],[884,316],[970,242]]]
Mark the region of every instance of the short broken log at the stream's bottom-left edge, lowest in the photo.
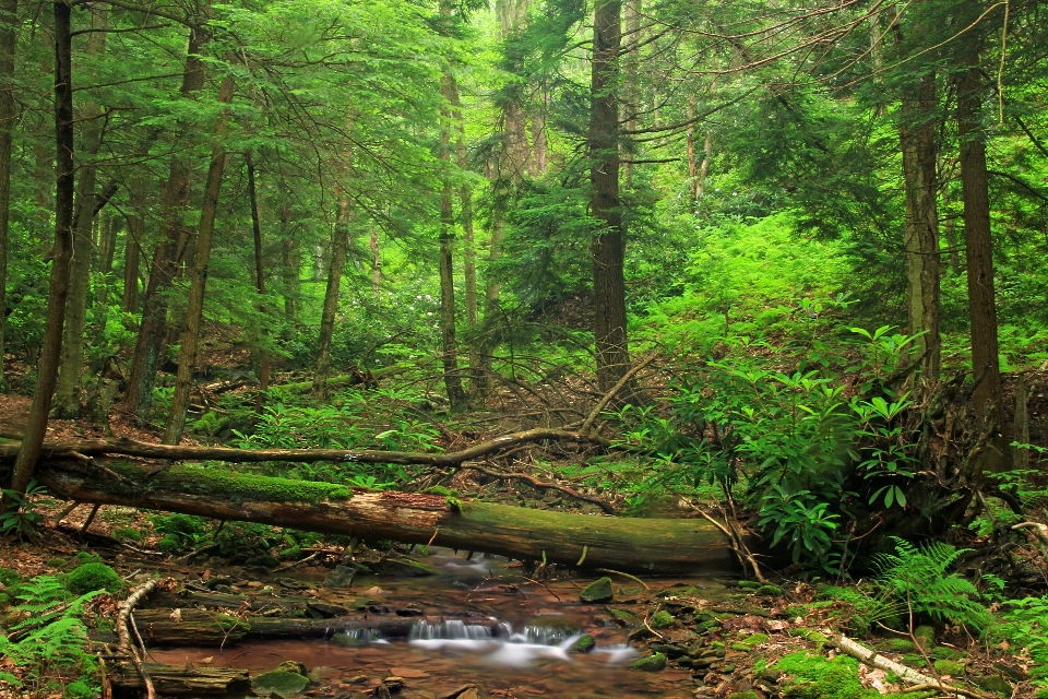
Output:
[[[145,663],[160,697],[245,696],[251,691],[248,671],[235,667],[175,667]],[[116,696],[136,696],[145,689],[142,677],[130,663],[117,665],[109,673]]]

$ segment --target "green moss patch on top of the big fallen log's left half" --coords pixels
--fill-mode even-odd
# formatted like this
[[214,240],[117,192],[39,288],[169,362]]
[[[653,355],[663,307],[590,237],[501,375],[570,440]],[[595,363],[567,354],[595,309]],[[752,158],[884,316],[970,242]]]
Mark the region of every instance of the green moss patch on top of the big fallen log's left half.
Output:
[[[132,481],[142,482],[141,469],[130,462],[107,462],[110,469]],[[177,464],[150,478],[150,490],[203,495],[229,502],[262,500],[266,502],[320,502],[348,500],[353,490],[344,485],[274,478],[226,469],[204,469],[199,464]],[[118,484],[121,485],[122,484]]]

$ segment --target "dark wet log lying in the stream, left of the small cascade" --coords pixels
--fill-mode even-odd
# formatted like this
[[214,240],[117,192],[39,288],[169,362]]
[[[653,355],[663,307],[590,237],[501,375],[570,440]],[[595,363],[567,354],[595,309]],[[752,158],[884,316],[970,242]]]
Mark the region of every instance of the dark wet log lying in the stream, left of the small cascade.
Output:
[[[329,638],[354,630],[372,630],[382,638],[407,638],[417,621],[446,619],[426,617],[395,617],[357,614],[331,619],[249,616],[237,618],[203,609],[140,609],[134,623],[143,640],[159,647],[228,648],[242,640]],[[473,619],[469,624],[497,626],[489,619]]]

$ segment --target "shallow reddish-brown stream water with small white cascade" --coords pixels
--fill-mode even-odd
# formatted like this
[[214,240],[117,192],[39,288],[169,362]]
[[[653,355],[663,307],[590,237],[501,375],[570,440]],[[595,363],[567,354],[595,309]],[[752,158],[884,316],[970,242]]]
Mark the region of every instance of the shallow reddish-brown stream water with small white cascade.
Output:
[[[480,696],[517,697],[665,697],[686,699],[694,684],[687,671],[641,673],[629,668],[640,656],[628,644],[628,628],[617,626],[609,606],[644,617],[641,597],[675,585],[703,589],[707,599],[724,594],[723,579],[648,580],[651,591],[626,578],[614,578],[610,605],[579,602],[591,579],[531,582],[502,558],[466,560],[450,550],[433,550],[422,560],[438,571],[427,578],[362,577],[350,590],[320,588],[325,602],[368,604],[376,615],[394,615],[412,606],[428,617],[454,616],[463,623],[417,624],[412,638],[385,640],[373,633],[337,635],[327,640],[262,641],[215,649],[154,650],[157,662],[243,667],[252,674],[288,660],[303,663],[320,677],[309,694],[327,697],[368,696],[391,675],[404,678],[405,699],[441,697],[475,684]],[[322,582],[317,573],[310,582]],[[308,579],[308,574],[299,576]],[[476,619],[477,624],[471,624]],[[497,621],[492,624],[491,621]],[[581,633],[596,639],[590,653],[572,652]]]

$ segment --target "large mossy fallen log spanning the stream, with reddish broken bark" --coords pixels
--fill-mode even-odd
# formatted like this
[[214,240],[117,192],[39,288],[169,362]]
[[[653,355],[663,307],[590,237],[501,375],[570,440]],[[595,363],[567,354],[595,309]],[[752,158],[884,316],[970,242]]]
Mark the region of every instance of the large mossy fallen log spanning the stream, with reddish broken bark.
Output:
[[[102,461],[102,460],[97,460]],[[36,470],[52,495],[296,530],[487,552],[571,567],[679,573],[730,564],[724,535],[704,520],[627,519],[533,510],[417,493],[180,464],[168,470],[105,460],[49,460]]]

